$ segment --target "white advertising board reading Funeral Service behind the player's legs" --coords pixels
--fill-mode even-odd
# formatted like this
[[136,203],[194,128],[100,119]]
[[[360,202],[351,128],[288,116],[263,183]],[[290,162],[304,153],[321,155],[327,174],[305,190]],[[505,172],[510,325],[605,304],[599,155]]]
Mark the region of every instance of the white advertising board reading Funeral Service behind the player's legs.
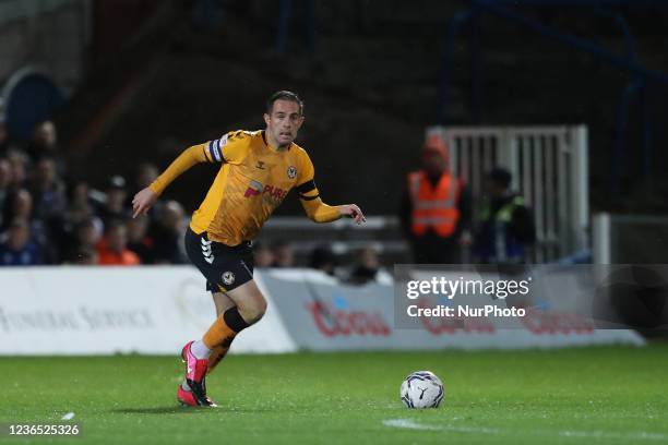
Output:
[[[237,352],[295,345],[273,309],[235,341]],[[215,320],[189,266],[0,269],[0,354],[176,354]]]

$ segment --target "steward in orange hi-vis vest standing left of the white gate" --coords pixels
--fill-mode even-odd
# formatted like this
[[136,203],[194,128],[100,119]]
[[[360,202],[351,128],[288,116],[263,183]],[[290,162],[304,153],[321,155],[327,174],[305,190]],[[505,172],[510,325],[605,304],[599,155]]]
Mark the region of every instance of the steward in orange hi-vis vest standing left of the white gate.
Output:
[[450,172],[449,152],[438,135],[427,139],[422,168],[407,177],[399,220],[418,264],[456,264],[469,239],[470,195]]

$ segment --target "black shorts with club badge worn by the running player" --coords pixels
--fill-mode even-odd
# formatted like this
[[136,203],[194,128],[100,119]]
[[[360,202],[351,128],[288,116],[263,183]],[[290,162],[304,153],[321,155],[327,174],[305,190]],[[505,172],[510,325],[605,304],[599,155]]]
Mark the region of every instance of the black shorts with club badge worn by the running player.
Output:
[[206,278],[206,290],[226,292],[253,279],[253,250],[251,242],[229,246],[210,241],[206,232],[186,232],[186,252]]

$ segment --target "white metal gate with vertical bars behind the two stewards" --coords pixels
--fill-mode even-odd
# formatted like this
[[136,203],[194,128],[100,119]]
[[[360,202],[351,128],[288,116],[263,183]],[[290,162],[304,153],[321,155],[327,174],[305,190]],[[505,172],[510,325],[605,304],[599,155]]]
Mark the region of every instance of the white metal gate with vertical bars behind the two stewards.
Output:
[[534,262],[588,248],[586,127],[434,127],[427,132],[444,140],[451,170],[470,188],[474,202],[480,202],[485,175],[492,167],[510,170],[513,191],[533,212]]

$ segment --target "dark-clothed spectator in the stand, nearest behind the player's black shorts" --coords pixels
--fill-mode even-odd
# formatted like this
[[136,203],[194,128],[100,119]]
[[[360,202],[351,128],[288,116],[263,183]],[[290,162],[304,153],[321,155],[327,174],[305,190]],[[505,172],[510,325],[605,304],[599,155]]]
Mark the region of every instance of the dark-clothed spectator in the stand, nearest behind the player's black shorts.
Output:
[[168,201],[156,214],[150,231],[155,263],[183,264],[187,262],[183,237],[188,226],[184,216],[183,207],[176,201]]

